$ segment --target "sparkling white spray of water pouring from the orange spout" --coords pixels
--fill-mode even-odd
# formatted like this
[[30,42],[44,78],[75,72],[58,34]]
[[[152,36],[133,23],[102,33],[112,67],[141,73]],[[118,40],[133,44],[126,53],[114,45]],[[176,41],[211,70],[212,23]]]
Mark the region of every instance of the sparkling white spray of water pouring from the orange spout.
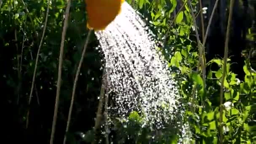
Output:
[[110,113],[125,117],[131,111],[141,112],[145,123],[155,128],[164,128],[182,114],[176,82],[156,51],[154,35],[128,3],[96,36],[105,56],[109,91],[115,93],[116,106],[110,107]]

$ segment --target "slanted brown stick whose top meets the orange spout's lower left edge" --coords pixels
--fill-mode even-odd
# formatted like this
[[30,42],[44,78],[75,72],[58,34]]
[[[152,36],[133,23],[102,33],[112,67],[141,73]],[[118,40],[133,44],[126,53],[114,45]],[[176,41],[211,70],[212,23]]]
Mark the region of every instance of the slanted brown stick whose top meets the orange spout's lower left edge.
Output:
[[72,109],[73,109],[73,104],[74,104],[74,99],[75,99],[75,89],[76,89],[76,87],[77,87],[77,81],[78,81],[80,69],[81,69],[81,67],[82,67],[83,59],[84,59],[84,57],[85,57],[85,51],[86,51],[88,42],[89,42],[89,40],[90,40],[90,35],[91,35],[91,33],[92,33],[92,31],[89,30],[88,35],[87,35],[87,38],[86,38],[86,40],[85,40],[85,45],[84,45],[84,48],[83,48],[82,56],[81,56],[79,65],[78,65],[78,67],[77,67],[77,72],[76,72],[76,75],[75,75],[75,81],[74,81],[73,91],[72,91],[72,98],[71,98],[70,107],[69,107],[69,115],[68,115],[68,119],[67,119],[66,134],[65,134],[65,136],[64,136],[63,144],[66,144],[66,140],[67,140],[67,137],[66,137],[66,136],[67,136],[67,132],[69,131],[69,124],[70,124],[70,119],[71,119]]

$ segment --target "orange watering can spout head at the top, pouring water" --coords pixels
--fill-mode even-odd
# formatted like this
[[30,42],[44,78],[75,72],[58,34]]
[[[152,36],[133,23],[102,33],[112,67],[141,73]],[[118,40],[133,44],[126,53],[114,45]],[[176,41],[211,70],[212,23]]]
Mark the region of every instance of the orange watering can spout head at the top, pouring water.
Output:
[[125,0],[85,0],[87,27],[95,31],[105,29],[120,13]]

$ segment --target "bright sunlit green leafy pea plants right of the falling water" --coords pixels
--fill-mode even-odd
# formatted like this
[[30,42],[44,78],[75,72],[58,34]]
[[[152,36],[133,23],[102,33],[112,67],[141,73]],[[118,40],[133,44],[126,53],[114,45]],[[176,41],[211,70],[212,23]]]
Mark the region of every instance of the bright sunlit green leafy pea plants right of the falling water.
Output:
[[[179,11],[176,11],[176,0],[128,2],[147,17],[149,27],[162,42],[157,49],[168,61],[168,66],[180,85],[182,102],[186,103],[184,123],[189,123],[192,133],[189,143],[251,144],[256,141],[256,127],[253,126],[256,72],[251,68],[248,58],[244,61],[243,80],[239,80],[232,72],[232,59],[228,57],[214,58],[206,63],[204,44],[200,40],[198,42],[198,37],[197,40],[192,40],[191,37],[193,33],[198,35],[195,32],[195,16],[200,15],[200,11],[192,11],[200,1],[183,0]],[[229,9],[232,9],[232,1]],[[232,11],[229,13],[232,14]],[[217,70],[212,67],[217,67]],[[132,113],[131,117],[135,117],[134,115]],[[139,123],[140,120],[135,121]],[[165,135],[167,136],[158,137],[161,139],[158,140],[163,143],[177,142],[178,137],[170,133]]]

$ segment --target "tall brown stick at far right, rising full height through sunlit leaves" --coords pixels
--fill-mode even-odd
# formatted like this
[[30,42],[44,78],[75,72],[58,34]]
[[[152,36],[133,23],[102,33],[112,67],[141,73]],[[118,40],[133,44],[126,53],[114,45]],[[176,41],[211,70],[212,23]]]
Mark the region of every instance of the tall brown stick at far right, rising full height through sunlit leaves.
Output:
[[221,90],[220,90],[220,117],[219,117],[219,142],[220,144],[223,143],[223,128],[222,128],[222,122],[223,122],[223,86],[224,86],[224,80],[226,78],[226,70],[227,70],[227,56],[228,56],[228,46],[229,46],[229,29],[232,22],[232,13],[233,13],[233,5],[234,0],[230,0],[230,6],[229,6],[229,19],[227,23],[227,32],[226,32],[226,40],[225,40],[225,50],[224,50],[224,64],[222,69],[222,78],[221,78]]

